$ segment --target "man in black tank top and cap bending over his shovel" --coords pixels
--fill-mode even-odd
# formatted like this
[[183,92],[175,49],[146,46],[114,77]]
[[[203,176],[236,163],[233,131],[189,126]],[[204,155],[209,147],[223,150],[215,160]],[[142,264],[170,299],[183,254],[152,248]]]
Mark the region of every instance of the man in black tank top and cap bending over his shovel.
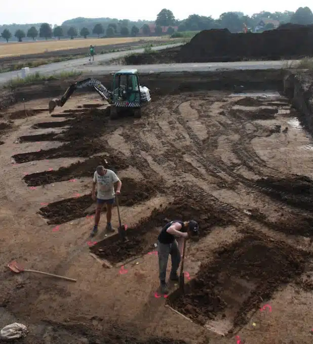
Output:
[[[171,254],[172,270],[170,273],[171,281],[178,281],[177,270],[180,263],[181,248],[184,239],[189,235],[198,235],[199,225],[197,222],[191,221],[172,221],[167,223],[161,230],[158,236],[158,255],[159,255],[159,278],[161,283],[161,291],[164,294],[168,293],[166,278],[166,268]],[[176,240],[177,239],[177,240]],[[179,241],[179,244],[178,244]]]

